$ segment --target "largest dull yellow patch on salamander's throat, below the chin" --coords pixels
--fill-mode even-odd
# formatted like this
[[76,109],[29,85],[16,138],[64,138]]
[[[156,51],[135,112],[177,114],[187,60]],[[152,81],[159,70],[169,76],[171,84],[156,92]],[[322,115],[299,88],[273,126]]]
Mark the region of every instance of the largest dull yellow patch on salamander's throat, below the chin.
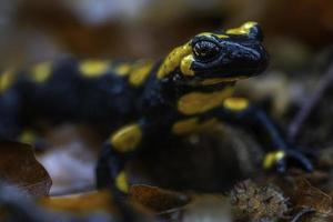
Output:
[[222,105],[223,101],[232,93],[232,87],[216,92],[191,92],[179,99],[178,110],[183,114],[203,113]]

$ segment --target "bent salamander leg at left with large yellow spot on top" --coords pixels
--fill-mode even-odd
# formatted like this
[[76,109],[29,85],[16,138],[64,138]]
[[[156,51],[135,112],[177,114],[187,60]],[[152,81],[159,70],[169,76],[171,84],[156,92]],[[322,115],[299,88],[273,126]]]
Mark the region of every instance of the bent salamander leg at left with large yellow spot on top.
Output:
[[104,143],[97,167],[99,189],[111,186],[128,193],[129,184],[124,167],[127,161],[142,147],[147,137],[144,121],[120,128]]

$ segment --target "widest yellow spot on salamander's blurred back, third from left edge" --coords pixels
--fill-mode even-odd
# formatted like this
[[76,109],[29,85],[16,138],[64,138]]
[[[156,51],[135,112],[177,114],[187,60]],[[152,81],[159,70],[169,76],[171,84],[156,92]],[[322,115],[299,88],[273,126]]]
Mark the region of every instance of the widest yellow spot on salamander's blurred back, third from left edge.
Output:
[[79,70],[83,77],[98,78],[108,72],[110,62],[103,60],[85,60],[79,65]]

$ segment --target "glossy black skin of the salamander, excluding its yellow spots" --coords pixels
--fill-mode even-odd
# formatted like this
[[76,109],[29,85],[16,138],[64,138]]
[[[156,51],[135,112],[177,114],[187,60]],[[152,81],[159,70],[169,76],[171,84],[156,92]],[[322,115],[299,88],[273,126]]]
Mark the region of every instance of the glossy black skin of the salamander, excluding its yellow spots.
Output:
[[[158,79],[161,64],[158,62],[144,84],[138,88],[112,70],[95,79],[82,77],[78,69],[79,61],[60,60],[54,63],[52,77],[46,82],[36,83],[22,74],[0,95],[0,138],[16,139],[22,129],[36,127],[38,120],[47,120],[51,124],[89,124],[105,138],[121,127],[135,122],[143,133],[135,151],[157,142],[163,143],[163,140],[178,137],[171,132],[176,121],[191,118],[178,111],[180,97],[193,91],[222,90],[234,84],[224,82],[203,87],[198,82],[205,78],[238,77],[239,73],[253,77],[265,70],[268,54],[261,41],[262,33],[258,26],[248,34],[230,36],[224,40],[214,36],[195,37],[191,41],[195,58],[191,67],[194,77],[184,75],[176,68],[165,78]],[[279,172],[285,172],[289,160],[306,171],[313,169],[307,158],[285,141],[276,124],[253,104],[241,111],[221,105],[195,117],[202,121],[216,118],[244,127],[263,142],[268,151],[283,150],[285,158],[275,164]],[[115,176],[133,153],[119,153],[105,142],[97,167],[98,188],[114,188]]]

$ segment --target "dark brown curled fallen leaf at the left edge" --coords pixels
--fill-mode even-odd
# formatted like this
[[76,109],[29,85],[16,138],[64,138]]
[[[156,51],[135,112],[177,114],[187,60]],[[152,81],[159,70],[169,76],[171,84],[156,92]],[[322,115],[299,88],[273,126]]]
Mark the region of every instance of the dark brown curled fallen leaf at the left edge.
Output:
[[18,142],[0,142],[0,179],[32,195],[47,195],[52,181],[36,160],[32,148]]

